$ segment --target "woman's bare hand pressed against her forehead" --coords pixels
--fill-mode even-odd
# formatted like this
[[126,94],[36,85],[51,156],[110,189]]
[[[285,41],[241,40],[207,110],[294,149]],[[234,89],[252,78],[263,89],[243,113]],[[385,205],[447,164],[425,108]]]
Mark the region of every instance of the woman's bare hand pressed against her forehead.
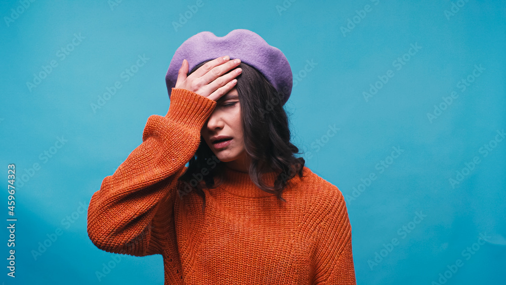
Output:
[[[211,100],[218,101],[220,97],[234,88],[237,83],[237,79],[234,78],[241,74],[242,70],[241,68],[237,68],[227,74],[224,73],[238,66],[240,63],[240,59],[230,60],[229,56],[222,56],[206,62],[187,76],[189,64],[185,59],[179,69],[176,88],[186,89]],[[221,74],[224,75],[220,76]]]

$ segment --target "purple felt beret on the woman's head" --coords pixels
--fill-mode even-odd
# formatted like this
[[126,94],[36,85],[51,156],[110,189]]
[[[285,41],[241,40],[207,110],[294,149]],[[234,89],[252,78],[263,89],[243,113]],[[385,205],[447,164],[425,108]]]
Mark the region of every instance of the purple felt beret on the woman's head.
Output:
[[165,75],[169,98],[172,88],[176,87],[183,59],[188,61],[191,70],[201,62],[225,55],[230,59],[239,58],[241,62],[255,67],[284,95],[281,105],[288,101],[293,84],[288,60],[279,49],[269,46],[260,35],[246,29],[232,30],[221,37],[204,31],[185,40],[176,50]]

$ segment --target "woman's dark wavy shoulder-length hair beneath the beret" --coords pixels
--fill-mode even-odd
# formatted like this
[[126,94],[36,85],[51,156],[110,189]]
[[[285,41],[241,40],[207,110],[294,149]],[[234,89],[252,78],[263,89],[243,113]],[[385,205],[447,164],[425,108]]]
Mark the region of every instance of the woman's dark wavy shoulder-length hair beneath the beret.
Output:
[[[195,66],[188,75],[206,62]],[[288,117],[280,103],[283,94],[277,92],[255,67],[244,62],[241,62],[238,67],[242,69],[242,73],[236,76],[235,88],[239,93],[244,145],[246,153],[251,157],[249,177],[260,189],[274,194],[279,200],[285,202],[286,200],[281,197],[281,194],[289,180],[295,175],[304,177],[305,160],[302,157],[294,156],[294,154],[302,152],[299,152],[299,148],[290,142]],[[202,211],[205,211],[203,184],[205,183],[207,188],[221,185],[224,182],[224,167],[225,165],[218,160],[205,140],[200,137],[199,147],[188,161],[188,168],[179,180],[186,182],[186,189],[195,190],[202,197]],[[262,181],[262,174],[271,171],[278,173],[272,186],[266,185]],[[215,177],[219,178],[216,185]],[[180,189],[180,197],[182,198],[182,195],[187,192]]]

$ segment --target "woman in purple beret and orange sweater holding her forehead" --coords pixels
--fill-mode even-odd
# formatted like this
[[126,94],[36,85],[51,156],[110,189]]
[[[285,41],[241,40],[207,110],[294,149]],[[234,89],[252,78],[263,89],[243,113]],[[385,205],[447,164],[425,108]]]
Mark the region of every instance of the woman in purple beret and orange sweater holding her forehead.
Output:
[[343,195],[293,155],[291,82],[254,32],[186,40],[167,71],[167,114],[148,118],[92,196],[93,243],[161,254],[165,284],[355,284]]

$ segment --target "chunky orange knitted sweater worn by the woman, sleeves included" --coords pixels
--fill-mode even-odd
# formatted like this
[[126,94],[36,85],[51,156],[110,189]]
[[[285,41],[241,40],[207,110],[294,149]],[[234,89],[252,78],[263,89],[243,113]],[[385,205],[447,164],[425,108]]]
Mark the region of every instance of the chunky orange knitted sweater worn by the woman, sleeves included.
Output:
[[111,253],[161,254],[171,285],[356,284],[343,195],[307,167],[289,181],[286,202],[229,168],[224,184],[203,189],[205,214],[194,191],[179,197],[178,178],[216,104],[172,89],[167,114],[148,118],[141,145],[93,194],[91,241]]

